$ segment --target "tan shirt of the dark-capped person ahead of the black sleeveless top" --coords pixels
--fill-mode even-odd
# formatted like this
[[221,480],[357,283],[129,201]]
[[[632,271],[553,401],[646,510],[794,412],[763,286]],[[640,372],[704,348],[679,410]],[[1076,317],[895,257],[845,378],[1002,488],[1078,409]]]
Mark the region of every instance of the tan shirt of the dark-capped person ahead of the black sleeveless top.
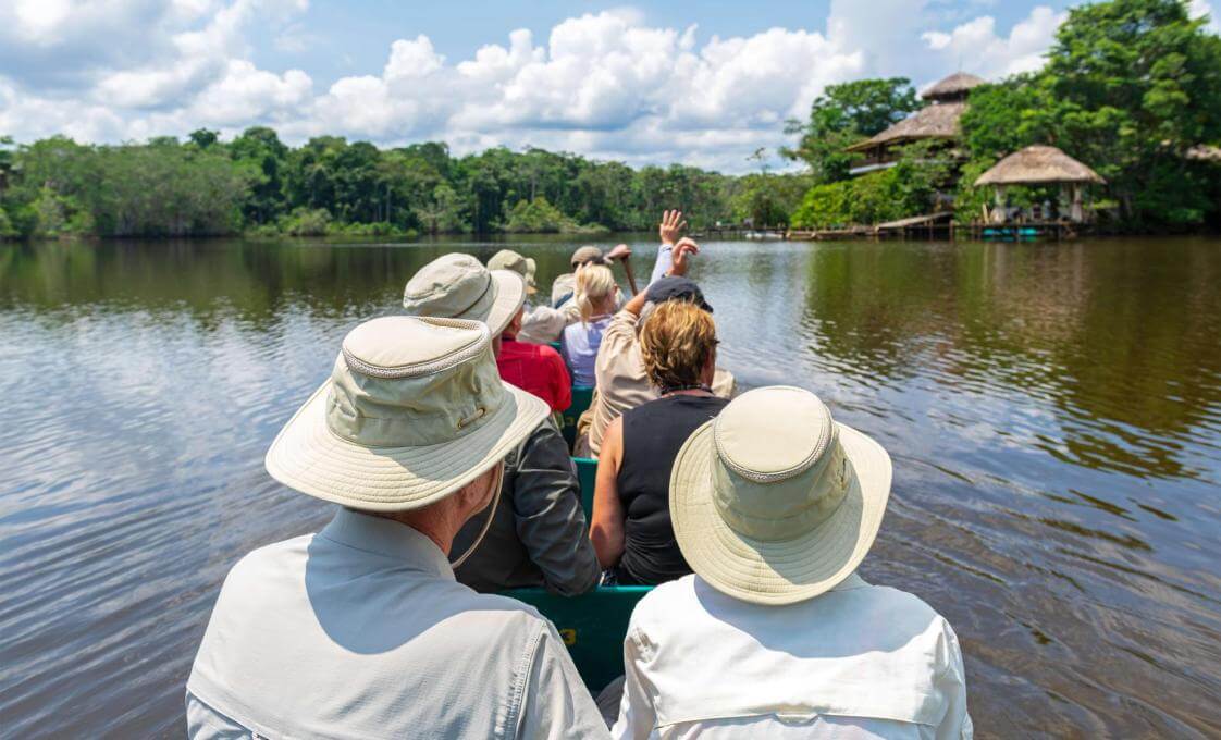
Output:
[[[643,405],[661,397],[645,372],[645,360],[640,357],[636,325],[640,317],[631,311],[619,311],[602,332],[602,346],[593,365],[597,393],[590,404],[590,449],[597,455],[602,449],[602,436],[610,423],[628,409]],[[722,398],[734,394],[734,376],[717,369],[712,391]]]

